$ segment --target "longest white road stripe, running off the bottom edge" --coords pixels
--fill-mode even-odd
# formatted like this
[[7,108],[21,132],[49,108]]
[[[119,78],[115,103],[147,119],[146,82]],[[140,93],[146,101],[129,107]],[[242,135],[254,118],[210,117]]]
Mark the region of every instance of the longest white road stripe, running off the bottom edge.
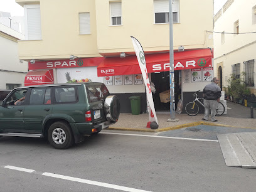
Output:
[[[141,189],[127,188],[127,187],[119,186],[119,185],[115,185],[115,184],[108,184],[108,183],[102,183],[102,182],[97,182],[97,181],[90,181],[90,180],[87,180],[87,179],[73,178],[73,177],[64,176],[64,175],[61,175],[61,174],[53,174],[53,173],[45,172],[42,175],[50,176],[52,178],[59,178],[59,179],[65,179],[65,180],[69,180],[69,181],[76,181],[76,182],[79,182],[79,183],[86,183],[86,184],[93,184],[93,185],[97,185],[97,186],[103,186],[105,188],[119,189],[119,190],[122,190],[122,191],[138,191],[138,192],[144,191],[144,190],[141,190]],[[144,192],[149,192],[149,191],[144,191]]]

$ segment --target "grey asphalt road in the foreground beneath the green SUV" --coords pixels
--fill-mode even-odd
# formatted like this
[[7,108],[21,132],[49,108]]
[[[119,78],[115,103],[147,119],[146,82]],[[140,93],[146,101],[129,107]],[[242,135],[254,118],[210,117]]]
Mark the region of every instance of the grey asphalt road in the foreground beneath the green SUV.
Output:
[[104,131],[67,150],[2,137],[0,191],[254,191],[254,169],[227,167],[216,139],[170,132]]

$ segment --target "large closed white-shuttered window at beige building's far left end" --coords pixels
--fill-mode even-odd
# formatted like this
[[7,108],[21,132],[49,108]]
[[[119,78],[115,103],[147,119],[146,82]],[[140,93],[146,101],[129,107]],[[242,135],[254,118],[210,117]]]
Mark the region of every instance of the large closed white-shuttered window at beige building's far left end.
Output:
[[41,40],[40,4],[25,5],[25,33],[27,40]]

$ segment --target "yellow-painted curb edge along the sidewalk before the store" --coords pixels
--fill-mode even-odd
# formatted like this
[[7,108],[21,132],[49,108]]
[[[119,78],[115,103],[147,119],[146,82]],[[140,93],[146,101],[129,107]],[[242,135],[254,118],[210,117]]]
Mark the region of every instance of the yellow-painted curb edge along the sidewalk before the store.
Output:
[[109,127],[107,130],[138,131],[138,132],[164,132],[164,131],[171,131],[171,130],[175,130],[175,129],[182,129],[184,127],[194,127],[196,125],[209,125],[209,126],[232,127],[232,128],[242,128],[242,129],[256,129],[256,128],[252,128],[252,127],[235,127],[235,126],[231,126],[231,125],[222,125],[222,124],[216,124],[216,123],[212,123],[212,122],[198,121],[198,122],[193,122],[193,123],[188,123],[188,124],[183,124],[183,125],[176,125],[173,127],[164,127],[161,129],[148,129],[148,128],[136,129],[136,128]]

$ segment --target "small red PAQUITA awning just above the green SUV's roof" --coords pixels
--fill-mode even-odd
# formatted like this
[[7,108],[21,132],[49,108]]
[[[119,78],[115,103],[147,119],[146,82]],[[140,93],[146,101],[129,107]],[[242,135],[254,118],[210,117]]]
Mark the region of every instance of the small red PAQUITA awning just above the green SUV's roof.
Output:
[[53,70],[31,71],[26,74],[24,85],[43,85],[54,83]]

